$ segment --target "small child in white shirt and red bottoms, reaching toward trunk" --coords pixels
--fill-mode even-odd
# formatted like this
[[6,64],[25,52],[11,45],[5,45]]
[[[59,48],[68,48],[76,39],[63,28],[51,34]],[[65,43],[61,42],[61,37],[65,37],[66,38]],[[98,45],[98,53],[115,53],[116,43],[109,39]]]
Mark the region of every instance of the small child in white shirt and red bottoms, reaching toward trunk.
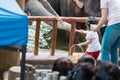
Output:
[[97,24],[97,20],[94,17],[88,17],[86,21],[87,31],[77,30],[77,29],[75,30],[76,32],[86,34],[86,37],[85,37],[86,41],[79,43],[78,46],[87,45],[88,47],[85,54],[89,54],[93,56],[95,60],[97,60],[100,54],[100,48],[101,48],[97,32],[92,31],[96,26],[96,24]]

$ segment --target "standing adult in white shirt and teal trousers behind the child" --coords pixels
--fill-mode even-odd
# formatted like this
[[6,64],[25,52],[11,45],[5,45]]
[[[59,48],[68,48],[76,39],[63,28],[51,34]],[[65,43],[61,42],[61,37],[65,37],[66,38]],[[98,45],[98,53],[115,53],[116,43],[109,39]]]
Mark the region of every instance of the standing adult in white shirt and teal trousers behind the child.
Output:
[[120,48],[120,0],[101,0],[101,19],[93,31],[108,21],[102,39],[102,62],[111,61],[118,64],[118,48]]

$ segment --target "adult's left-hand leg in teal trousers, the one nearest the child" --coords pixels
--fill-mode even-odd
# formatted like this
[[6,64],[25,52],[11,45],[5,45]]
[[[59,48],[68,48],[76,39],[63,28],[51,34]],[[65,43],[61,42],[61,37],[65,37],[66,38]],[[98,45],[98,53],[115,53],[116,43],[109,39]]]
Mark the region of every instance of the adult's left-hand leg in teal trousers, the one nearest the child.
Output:
[[115,43],[115,29],[112,26],[108,26],[106,28],[106,31],[104,33],[103,39],[102,39],[102,48],[101,48],[101,59],[102,62],[105,61],[111,61],[110,54],[111,54],[111,47]]

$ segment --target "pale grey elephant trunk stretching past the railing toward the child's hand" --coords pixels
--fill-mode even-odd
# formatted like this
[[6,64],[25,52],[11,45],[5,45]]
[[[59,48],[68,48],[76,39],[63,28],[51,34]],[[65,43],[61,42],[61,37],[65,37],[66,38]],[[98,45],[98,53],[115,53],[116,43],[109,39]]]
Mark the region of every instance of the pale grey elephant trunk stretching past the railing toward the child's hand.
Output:
[[[48,10],[46,10],[46,8],[44,8],[44,6],[38,0],[29,0],[26,3],[25,7],[26,7],[25,9],[29,11],[33,16],[55,16],[52,13],[50,13]],[[52,22],[46,22],[46,23],[52,26]],[[71,30],[71,24],[67,22],[63,22],[63,25],[61,25],[58,21],[57,28],[67,31]]]

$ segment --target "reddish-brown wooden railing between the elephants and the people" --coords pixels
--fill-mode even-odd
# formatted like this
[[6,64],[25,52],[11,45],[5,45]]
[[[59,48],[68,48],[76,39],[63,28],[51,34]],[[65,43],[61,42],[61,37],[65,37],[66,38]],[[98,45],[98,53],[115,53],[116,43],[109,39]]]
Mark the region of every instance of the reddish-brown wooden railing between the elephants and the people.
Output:
[[[34,44],[34,55],[38,55],[38,45],[39,45],[39,33],[41,21],[53,21],[53,30],[52,30],[52,42],[51,42],[51,55],[55,54],[56,48],[56,36],[57,36],[57,19],[56,17],[50,16],[28,16],[29,20],[36,21],[36,32],[35,32],[35,44]],[[63,21],[71,23],[70,31],[70,40],[69,40],[69,49],[74,44],[74,35],[77,22],[85,22],[87,17],[61,17]],[[100,18],[96,18],[99,20]],[[72,55],[72,52],[69,53]]]

